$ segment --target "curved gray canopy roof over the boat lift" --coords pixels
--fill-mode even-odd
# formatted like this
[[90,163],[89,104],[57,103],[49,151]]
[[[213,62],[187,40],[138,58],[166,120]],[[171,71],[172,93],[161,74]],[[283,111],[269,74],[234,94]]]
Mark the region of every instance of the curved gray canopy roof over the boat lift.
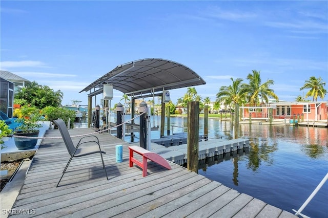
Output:
[[181,63],[146,58],[117,66],[79,93],[91,89],[100,91],[104,83],[112,84],[113,89],[129,96],[206,84],[193,70]]

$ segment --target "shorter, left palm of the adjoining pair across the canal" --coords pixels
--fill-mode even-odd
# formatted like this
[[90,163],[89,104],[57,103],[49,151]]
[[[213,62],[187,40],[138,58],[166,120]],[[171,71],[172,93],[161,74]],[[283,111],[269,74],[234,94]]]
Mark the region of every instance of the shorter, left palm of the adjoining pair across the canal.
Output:
[[234,80],[230,78],[232,81],[232,85],[229,86],[221,86],[219,92],[216,94],[216,102],[233,102],[239,103],[240,105],[245,101],[245,92],[242,88],[242,79],[237,78]]

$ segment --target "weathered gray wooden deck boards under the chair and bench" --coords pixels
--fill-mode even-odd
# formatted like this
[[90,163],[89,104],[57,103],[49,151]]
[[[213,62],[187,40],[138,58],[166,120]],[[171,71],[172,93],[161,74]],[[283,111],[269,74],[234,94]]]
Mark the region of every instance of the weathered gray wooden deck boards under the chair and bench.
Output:
[[[70,129],[71,136],[93,132]],[[45,137],[58,137],[48,130]],[[44,139],[25,183],[13,205],[15,211],[34,209],[23,217],[295,217],[250,195],[170,162],[171,170],[149,162],[148,176],[129,167],[127,142],[96,134],[106,149],[105,176],[100,155],[73,158],[56,188],[70,156],[62,139]],[[79,138],[72,138],[76,144]],[[116,163],[115,145],[123,145],[122,163]],[[136,156],[138,157],[138,156]],[[141,160],[141,159],[140,159]]]

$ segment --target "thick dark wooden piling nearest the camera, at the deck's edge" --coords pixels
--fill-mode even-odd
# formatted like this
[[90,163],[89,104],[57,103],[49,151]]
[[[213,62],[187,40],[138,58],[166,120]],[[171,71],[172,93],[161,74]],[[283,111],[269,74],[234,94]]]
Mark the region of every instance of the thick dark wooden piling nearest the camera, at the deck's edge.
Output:
[[188,102],[187,169],[198,173],[199,101]]

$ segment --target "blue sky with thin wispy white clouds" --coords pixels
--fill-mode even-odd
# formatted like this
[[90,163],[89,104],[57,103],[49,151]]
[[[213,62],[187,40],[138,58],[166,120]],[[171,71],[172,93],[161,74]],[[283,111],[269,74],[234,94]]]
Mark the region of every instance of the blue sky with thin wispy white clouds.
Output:
[[[261,71],[279,99],[304,81],[328,90],[327,1],[1,1],[1,70],[64,92],[63,104],[116,66],[142,58],[182,63],[206,82],[202,98],[230,78]],[[186,93],[172,90],[171,100]],[[101,96],[97,97],[100,103]],[[122,93],[114,90],[113,103]],[[326,96],[325,101],[328,97]],[[322,99],[318,99],[322,100]],[[123,101],[121,101],[123,102]]]

